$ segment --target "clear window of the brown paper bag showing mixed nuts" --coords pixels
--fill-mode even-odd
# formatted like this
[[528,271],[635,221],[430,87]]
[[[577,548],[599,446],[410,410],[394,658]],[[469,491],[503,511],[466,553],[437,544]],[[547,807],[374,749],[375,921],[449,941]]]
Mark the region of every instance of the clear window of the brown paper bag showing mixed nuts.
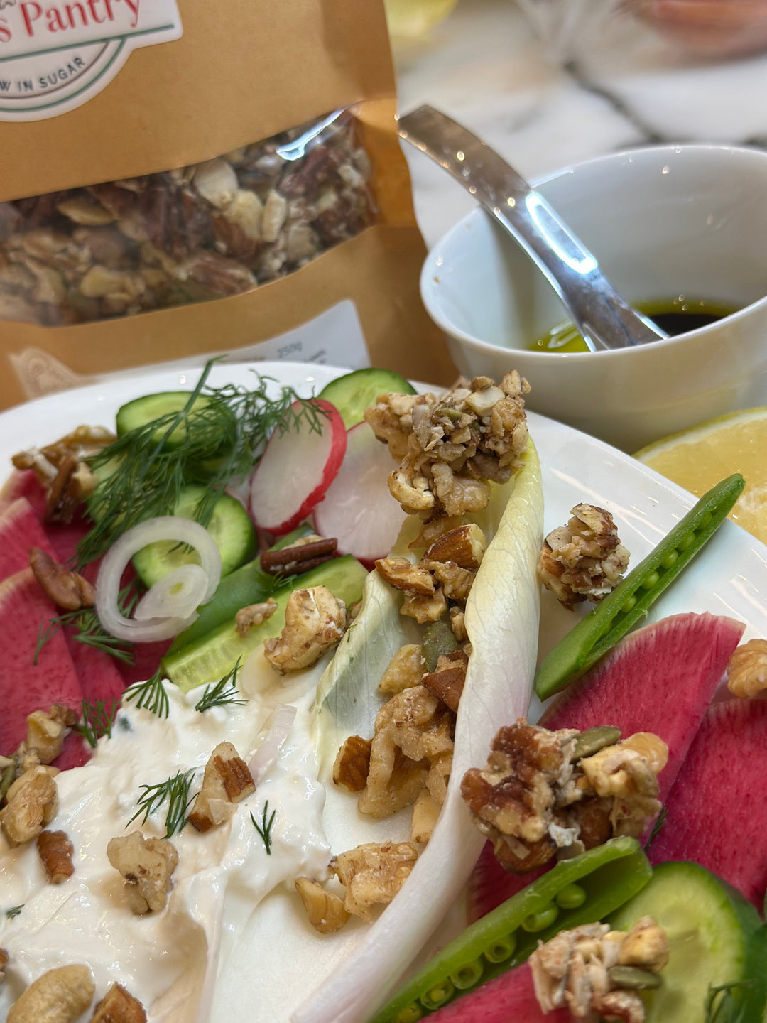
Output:
[[0,203],[0,319],[89,322],[246,292],[360,233],[347,112],[216,160]]

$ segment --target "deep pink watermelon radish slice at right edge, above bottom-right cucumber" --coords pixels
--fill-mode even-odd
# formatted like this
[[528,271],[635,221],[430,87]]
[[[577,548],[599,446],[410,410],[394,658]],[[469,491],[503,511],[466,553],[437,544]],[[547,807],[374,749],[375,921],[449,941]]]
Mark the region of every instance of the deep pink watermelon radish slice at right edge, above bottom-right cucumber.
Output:
[[758,909],[767,889],[767,702],[714,704],[666,802],[650,862],[691,859]]

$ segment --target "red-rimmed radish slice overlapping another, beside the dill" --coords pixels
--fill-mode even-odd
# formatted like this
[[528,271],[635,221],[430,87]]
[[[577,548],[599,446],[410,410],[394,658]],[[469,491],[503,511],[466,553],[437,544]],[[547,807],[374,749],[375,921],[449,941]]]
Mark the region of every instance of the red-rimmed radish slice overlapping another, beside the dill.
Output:
[[327,414],[312,431],[304,417],[299,429],[273,433],[251,484],[256,525],[280,536],[307,518],[330,486],[344,460],[347,432],[329,401],[316,399]]

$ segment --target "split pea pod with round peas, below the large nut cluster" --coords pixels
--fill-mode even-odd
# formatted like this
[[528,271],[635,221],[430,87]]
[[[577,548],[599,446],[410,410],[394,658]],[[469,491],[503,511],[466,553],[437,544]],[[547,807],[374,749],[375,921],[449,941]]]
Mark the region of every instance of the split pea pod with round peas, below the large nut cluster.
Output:
[[563,859],[459,935],[369,1023],[415,1023],[462,992],[518,966],[560,930],[602,920],[647,884],[652,871],[633,838],[611,839]]

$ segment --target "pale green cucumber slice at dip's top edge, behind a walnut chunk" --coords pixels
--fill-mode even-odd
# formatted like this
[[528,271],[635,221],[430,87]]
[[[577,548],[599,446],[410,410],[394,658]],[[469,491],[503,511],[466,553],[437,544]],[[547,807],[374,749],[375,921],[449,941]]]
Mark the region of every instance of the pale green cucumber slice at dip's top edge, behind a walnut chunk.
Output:
[[362,586],[367,569],[351,554],[333,558],[299,576],[292,583],[285,583],[273,590],[277,610],[262,624],[239,635],[234,620],[225,622],[195,642],[172,652],[163,659],[163,668],[172,682],[185,693],[206,682],[217,681],[231,671],[238,658],[245,658],[265,639],[279,635],[285,624],[285,607],[295,589],[327,586],[334,596],[340,596],[349,608],[362,597]]

